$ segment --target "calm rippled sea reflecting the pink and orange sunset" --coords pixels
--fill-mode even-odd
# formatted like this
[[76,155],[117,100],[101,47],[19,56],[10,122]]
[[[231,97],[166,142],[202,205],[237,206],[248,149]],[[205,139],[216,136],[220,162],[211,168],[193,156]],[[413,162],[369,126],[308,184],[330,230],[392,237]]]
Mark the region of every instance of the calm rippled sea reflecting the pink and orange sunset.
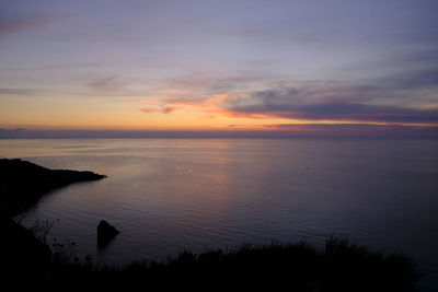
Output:
[[[97,261],[346,234],[411,254],[438,287],[438,141],[0,140],[0,155],[108,176],[45,196],[24,219],[56,222],[50,243]],[[104,250],[100,220],[122,231]]]

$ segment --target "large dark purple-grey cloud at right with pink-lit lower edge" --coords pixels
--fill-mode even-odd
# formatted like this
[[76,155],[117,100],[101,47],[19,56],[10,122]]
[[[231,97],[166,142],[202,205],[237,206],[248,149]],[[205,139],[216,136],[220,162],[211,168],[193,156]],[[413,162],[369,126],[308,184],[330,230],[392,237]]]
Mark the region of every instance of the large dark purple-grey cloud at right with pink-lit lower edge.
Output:
[[438,107],[434,106],[438,104],[437,75],[438,70],[428,69],[368,82],[372,85],[335,81],[287,84],[252,92],[222,106],[231,116],[253,118],[438,124]]

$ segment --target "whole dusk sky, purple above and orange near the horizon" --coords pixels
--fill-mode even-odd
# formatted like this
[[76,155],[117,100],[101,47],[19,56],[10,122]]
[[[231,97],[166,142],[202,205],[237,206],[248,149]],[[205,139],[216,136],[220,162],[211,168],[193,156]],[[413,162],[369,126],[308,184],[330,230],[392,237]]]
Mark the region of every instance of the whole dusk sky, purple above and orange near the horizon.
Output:
[[0,0],[0,137],[438,137],[436,0]]

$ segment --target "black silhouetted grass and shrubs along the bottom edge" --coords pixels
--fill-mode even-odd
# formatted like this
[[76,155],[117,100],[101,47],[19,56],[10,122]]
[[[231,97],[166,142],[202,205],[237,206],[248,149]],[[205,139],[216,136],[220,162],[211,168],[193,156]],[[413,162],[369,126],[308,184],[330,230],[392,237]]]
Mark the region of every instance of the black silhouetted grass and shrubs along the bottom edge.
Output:
[[[416,291],[420,273],[406,255],[383,254],[346,237],[322,250],[307,243],[183,252],[166,261],[100,266],[53,257],[48,290],[76,291]],[[66,283],[69,283],[66,285]]]

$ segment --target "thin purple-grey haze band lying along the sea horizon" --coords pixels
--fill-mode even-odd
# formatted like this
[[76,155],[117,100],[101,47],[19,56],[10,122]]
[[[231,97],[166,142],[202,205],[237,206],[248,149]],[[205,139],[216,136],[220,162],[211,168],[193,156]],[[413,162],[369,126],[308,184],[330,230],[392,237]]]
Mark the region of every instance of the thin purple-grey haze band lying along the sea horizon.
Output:
[[[391,130],[388,130],[391,127]],[[438,127],[337,125],[337,127],[301,126],[293,130],[27,130],[1,129],[0,139],[126,139],[126,138],[367,138],[438,139]]]

